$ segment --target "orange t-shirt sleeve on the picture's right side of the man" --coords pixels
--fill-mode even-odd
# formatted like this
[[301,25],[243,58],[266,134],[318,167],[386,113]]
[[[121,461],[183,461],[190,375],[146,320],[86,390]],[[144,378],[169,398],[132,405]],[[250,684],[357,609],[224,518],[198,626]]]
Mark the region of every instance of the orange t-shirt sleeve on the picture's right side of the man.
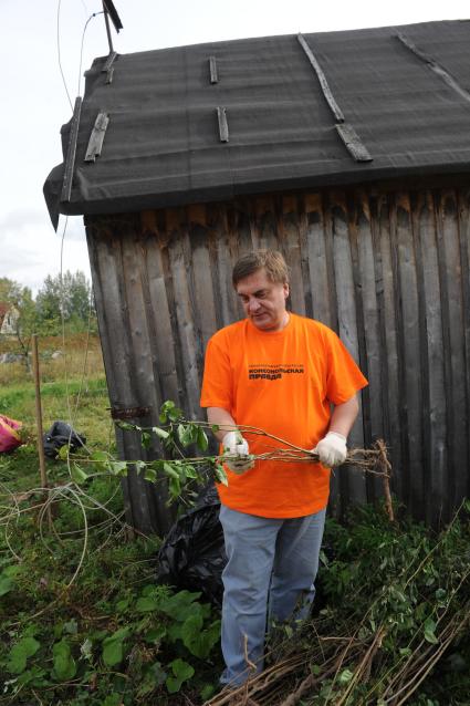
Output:
[[358,390],[366,387],[368,382],[334,331],[328,330],[325,343],[326,396],[334,405],[340,405],[351,399]]

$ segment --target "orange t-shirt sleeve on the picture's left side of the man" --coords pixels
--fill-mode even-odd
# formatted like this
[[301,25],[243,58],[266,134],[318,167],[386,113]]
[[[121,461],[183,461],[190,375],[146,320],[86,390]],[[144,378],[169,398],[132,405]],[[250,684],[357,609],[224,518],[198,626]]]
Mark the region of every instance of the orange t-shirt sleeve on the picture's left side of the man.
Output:
[[219,339],[212,336],[207,344],[200,406],[221,407],[231,413],[233,381],[230,357],[227,346]]

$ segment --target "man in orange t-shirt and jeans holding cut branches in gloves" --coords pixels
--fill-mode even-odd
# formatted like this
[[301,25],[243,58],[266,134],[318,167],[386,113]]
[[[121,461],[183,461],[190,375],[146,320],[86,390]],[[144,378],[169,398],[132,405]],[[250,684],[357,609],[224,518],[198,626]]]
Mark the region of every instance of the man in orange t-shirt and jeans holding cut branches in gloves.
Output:
[[[232,280],[247,318],[210,339],[200,404],[231,457],[228,486],[218,487],[228,560],[221,682],[238,686],[263,667],[267,620],[309,613],[330,468],[346,458],[356,392],[367,381],[331,329],[286,310],[289,272],[280,252],[242,257]],[[289,448],[281,439],[315,451],[321,463],[253,463]]]

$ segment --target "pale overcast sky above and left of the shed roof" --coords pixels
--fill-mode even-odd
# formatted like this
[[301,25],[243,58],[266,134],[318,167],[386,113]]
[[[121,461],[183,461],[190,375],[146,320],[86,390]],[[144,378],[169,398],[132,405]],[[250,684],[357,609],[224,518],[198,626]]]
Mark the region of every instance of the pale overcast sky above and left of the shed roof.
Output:
[[[313,0],[114,0],[124,29],[114,49],[128,53],[199,42],[469,19],[463,0],[448,2],[314,2]],[[42,185],[62,162],[60,128],[83,95],[83,72],[107,54],[101,0],[0,0],[1,169],[0,277],[31,287],[60,271],[58,232],[49,220]],[[59,18],[59,23],[58,23]],[[83,55],[81,66],[82,38]],[[80,82],[80,85],[79,85]],[[81,217],[69,218],[63,267],[90,277]]]

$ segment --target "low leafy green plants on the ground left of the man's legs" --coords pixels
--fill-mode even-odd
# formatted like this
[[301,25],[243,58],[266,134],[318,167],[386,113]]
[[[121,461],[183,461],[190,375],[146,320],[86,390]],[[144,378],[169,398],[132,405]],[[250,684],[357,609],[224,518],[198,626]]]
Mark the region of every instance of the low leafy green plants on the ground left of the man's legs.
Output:
[[[27,571],[17,572],[12,599],[4,594],[10,602],[0,602],[0,630],[8,635],[0,673],[10,675],[3,687],[9,700],[30,704],[34,692],[44,704],[164,706],[182,689],[210,692],[221,669],[220,621],[199,593],[155,585],[152,563],[136,583],[134,567],[155,554],[155,543],[116,538],[107,549],[92,549],[80,585],[64,595],[60,583],[71,548],[55,548],[51,563],[48,552],[27,549],[30,531],[23,528]],[[14,564],[2,573],[8,568]],[[44,575],[48,588],[41,589]],[[48,610],[54,594],[62,598]],[[41,622],[32,622],[30,615],[44,609]]]

